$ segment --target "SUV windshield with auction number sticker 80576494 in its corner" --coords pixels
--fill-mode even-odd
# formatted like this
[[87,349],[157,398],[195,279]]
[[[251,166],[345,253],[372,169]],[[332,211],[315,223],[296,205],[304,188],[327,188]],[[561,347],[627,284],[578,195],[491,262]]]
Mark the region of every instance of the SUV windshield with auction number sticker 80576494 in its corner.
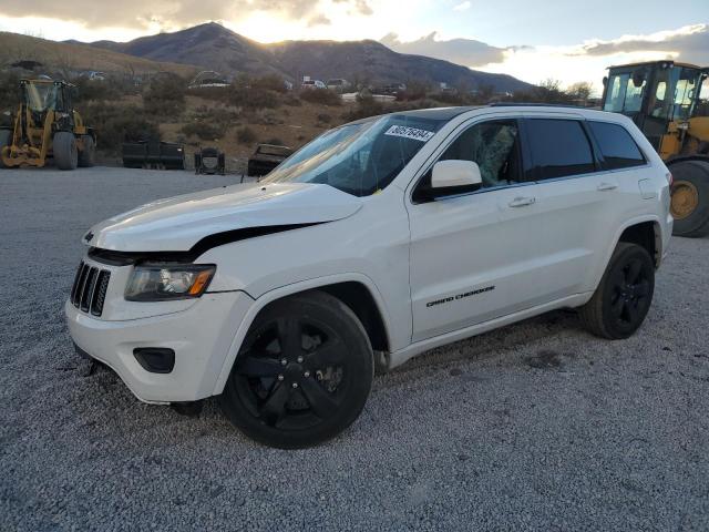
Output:
[[330,130],[284,161],[268,183],[323,183],[354,196],[383,190],[443,121],[388,115]]

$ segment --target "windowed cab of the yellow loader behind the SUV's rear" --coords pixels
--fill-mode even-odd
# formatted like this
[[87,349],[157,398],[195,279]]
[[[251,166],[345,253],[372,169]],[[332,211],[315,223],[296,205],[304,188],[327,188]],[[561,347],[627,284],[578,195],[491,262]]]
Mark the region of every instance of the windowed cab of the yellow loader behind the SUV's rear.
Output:
[[604,85],[604,111],[633,119],[664,157],[672,154],[662,150],[665,135],[706,112],[709,96],[707,69],[674,61],[612,66]]

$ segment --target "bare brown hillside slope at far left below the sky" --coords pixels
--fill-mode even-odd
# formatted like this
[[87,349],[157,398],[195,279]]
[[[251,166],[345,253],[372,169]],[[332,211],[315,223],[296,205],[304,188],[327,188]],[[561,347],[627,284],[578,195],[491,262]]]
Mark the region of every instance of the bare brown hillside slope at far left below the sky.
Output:
[[0,69],[17,61],[37,61],[45,72],[63,75],[84,70],[100,70],[113,73],[143,74],[150,72],[174,72],[194,75],[195,68],[186,64],[155,62],[116,50],[97,50],[76,41],[56,42],[17,33],[0,32]]

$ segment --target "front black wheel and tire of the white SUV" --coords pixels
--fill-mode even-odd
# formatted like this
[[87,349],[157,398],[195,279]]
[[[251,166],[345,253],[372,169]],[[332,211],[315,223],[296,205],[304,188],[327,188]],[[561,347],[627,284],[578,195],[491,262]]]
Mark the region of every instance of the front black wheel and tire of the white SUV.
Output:
[[359,417],[373,374],[372,347],[354,313],[328,294],[309,291],[257,316],[219,402],[260,443],[311,447]]

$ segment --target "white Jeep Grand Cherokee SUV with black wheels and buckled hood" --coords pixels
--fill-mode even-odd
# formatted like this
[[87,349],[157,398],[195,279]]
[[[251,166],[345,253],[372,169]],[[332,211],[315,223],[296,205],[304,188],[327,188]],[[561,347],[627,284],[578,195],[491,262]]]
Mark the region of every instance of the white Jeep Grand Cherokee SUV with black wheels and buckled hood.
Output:
[[631,335],[671,235],[670,181],[619,114],[367,119],[258,184],[92,227],[69,327],[138,399],[219,396],[249,437],[306,447],[354,421],[377,365],[562,307]]

